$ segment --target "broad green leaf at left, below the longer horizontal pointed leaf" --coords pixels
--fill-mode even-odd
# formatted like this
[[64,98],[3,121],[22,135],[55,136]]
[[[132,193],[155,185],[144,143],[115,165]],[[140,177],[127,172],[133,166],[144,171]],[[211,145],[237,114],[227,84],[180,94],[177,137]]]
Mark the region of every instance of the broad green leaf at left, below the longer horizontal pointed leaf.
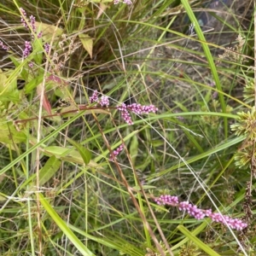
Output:
[[43,186],[44,183],[47,183],[49,179],[55,175],[55,172],[59,170],[60,166],[61,160],[58,160],[54,155],[51,156],[44,167],[39,171],[39,185]]

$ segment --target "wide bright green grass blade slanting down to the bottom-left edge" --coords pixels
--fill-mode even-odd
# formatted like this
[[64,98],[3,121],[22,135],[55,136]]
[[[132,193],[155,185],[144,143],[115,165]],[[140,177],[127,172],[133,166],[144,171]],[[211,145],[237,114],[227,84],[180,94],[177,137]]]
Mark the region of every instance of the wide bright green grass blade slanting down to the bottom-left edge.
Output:
[[49,213],[49,216],[55,221],[55,224],[62,230],[62,232],[67,236],[67,238],[73,243],[79,252],[84,256],[94,256],[95,254],[91,253],[90,250],[84,246],[84,244],[79,240],[77,236],[73,234],[73,231],[69,229],[67,224],[60,218],[60,216],[55,212],[53,207],[49,205],[49,202],[44,198],[44,195],[38,194],[40,202],[44,209]]

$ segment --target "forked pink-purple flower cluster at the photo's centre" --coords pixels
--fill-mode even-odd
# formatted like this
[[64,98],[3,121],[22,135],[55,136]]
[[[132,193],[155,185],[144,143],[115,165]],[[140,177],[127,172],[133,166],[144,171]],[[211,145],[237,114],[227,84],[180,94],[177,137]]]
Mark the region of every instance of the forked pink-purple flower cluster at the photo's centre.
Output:
[[125,103],[122,103],[122,105],[119,106],[117,109],[121,112],[122,118],[128,125],[133,124],[129,111],[136,114],[142,114],[150,112],[155,113],[158,110],[158,108],[155,108],[154,105],[142,106],[141,104],[137,103],[133,103],[131,105],[125,105]]

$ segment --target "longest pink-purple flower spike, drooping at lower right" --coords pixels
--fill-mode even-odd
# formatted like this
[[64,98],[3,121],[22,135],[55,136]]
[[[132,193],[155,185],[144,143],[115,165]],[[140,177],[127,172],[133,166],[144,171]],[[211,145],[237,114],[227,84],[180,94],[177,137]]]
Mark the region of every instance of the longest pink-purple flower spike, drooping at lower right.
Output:
[[180,211],[188,212],[190,216],[196,219],[209,217],[212,221],[228,225],[234,230],[243,230],[247,227],[247,224],[239,218],[230,218],[229,216],[222,215],[218,212],[212,212],[211,209],[203,210],[190,204],[188,201],[179,202],[177,196],[174,195],[160,195],[160,197],[155,199],[155,202],[158,205],[178,207]]

